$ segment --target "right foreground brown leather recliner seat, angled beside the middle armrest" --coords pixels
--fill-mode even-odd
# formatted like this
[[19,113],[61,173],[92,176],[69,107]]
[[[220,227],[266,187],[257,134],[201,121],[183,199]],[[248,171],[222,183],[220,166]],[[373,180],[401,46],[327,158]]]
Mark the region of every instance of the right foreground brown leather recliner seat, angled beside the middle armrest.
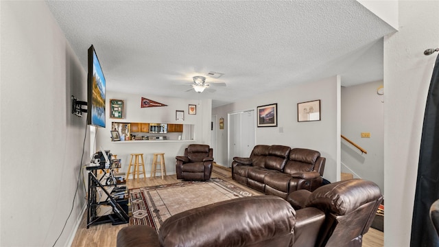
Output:
[[309,207],[325,212],[316,246],[361,246],[383,196],[368,180],[343,180],[319,187],[313,192],[301,189],[289,193],[287,200],[296,212]]

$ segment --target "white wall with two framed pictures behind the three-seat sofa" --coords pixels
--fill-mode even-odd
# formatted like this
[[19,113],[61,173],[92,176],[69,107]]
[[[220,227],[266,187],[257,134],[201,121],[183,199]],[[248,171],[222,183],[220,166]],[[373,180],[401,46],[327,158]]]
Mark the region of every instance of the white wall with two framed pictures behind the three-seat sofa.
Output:
[[[327,158],[324,178],[334,182],[340,179],[340,165],[337,166],[337,160],[340,160],[337,158],[337,145],[340,146],[340,121],[337,118],[339,92],[340,79],[333,77],[244,99],[241,102],[214,108],[212,112],[213,115],[224,117],[224,122],[227,123],[227,113],[256,110],[257,106],[277,103],[278,127],[257,128],[256,144],[287,145],[292,148],[318,150]],[[298,122],[297,104],[315,99],[321,100],[322,120]],[[218,151],[215,160],[222,164],[228,162],[227,128],[228,126],[224,124],[224,130],[219,130],[217,141]],[[280,132],[282,128],[283,132]]]

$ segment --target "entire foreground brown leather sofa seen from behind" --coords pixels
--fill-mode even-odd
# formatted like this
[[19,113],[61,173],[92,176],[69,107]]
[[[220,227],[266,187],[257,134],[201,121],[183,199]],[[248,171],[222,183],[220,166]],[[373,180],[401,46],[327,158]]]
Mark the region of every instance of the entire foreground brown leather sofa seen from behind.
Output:
[[150,226],[126,226],[117,247],[361,246],[382,200],[377,185],[366,180],[295,191],[288,198],[290,203],[254,196],[191,209],[165,220],[158,234]]

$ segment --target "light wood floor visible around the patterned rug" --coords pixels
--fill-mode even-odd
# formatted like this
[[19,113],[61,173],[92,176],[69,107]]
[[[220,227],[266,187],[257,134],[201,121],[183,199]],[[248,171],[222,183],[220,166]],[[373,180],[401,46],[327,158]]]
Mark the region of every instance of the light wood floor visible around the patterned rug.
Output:
[[[212,177],[219,177],[224,180],[227,180],[229,183],[233,183],[234,185],[238,185],[240,187],[244,187],[243,185],[239,185],[232,180],[231,178],[223,178],[221,176],[217,176],[215,173],[212,173]],[[146,178],[137,180],[128,180],[127,187],[128,188],[139,188],[146,187],[152,185],[166,185],[169,183],[178,183],[180,180],[176,178],[176,175],[165,176],[162,180],[161,177],[155,178]],[[248,191],[252,192],[252,189],[245,187]],[[256,193],[259,193],[255,191]],[[118,226],[112,226],[112,224],[99,224],[96,226],[90,226],[90,228],[86,228],[86,213],[82,217],[82,221],[76,232],[75,238],[73,239],[73,243],[71,246],[87,246],[87,247],[114,247],[116,246],[116,237],[117,232],[128,224],[121,224]],[[370,228],[368,233],[364,235],[363,246],[364,247],[381,247],[384,246],[383,240],[384,235],[381,231],[377,231],[373,228]]]

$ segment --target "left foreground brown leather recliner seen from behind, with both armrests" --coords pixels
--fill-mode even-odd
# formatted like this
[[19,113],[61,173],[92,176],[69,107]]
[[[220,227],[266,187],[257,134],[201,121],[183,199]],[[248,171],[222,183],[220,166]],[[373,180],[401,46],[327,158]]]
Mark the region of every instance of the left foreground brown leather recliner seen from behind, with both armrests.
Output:
[[308,208],[301,214],[278,196],[236,198],[173,215],[158,235],[150,226],[122,228],[117,247],[299,246],[295,235],[307,239],[300,247],[313,247],[324,213]]

